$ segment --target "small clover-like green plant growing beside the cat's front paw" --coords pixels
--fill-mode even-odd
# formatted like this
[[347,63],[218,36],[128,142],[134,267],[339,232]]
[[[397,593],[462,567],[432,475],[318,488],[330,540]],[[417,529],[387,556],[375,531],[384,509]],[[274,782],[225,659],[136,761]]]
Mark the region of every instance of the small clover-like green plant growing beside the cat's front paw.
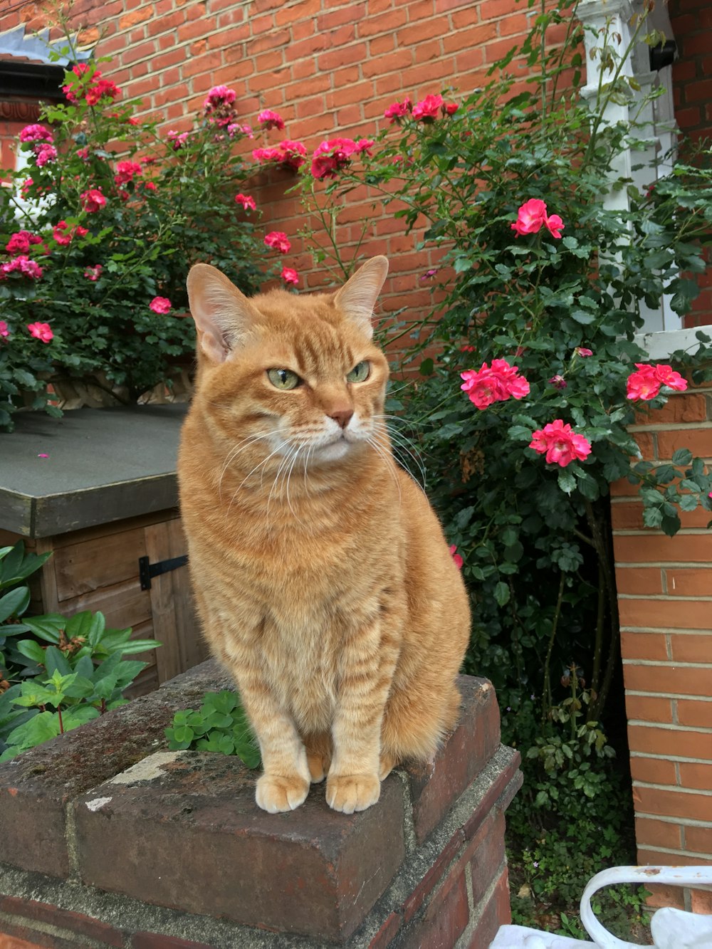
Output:
[[259,747],[240,698],[228,689],[207,692],[198,712],[177,712],[165,735],[172,751],[195,748],[236,754],[248,768],[259,768],[261,763]]

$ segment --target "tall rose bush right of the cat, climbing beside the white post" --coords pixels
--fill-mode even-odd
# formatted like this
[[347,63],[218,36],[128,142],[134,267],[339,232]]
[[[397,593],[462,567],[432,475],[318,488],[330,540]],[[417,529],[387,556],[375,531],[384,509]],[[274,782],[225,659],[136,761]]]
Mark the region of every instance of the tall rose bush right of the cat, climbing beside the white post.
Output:
[[[604,121],[608,103],[630,92],[609,37],[598,42],[613,64],[610,84],[594,102],[576,88],[583,28],[574,8],[542,13],[497,65],[499,78],[459,102],[431,93],[388,105],[361,166],[338,165],[327,181],[313,166],[303,174],[310,210],[329,224],[362,185],[406,230],[424,226],[422,247],[440,249],[440,267],[423,279],[445,291],[443,303],[395,333],[418,340],[403,358],[420,380],[402,418],[473,591],[471,668],[516,710],[532,694],[551,706],[553,670],[574,661],[593,719],[619,642],[609,483],[638,483],[646,525],[668,533],[680,508],[712,509],[702,461],[681,450],[672,464],[636,462],[628,432],[636,412],[687,384],[650,364],[635,333],[644,304],[665,292],[684,313],[698,292],[689,272],[704,270],[712,174],[680,160],[654,189],[616,180],[617,158],[641,133]],[[567,40],[550,49],[547,30],[561,23]],[[514,95],[507,65],[516,55],[532,76],[531,91]],[[565,70],[573,88],[561,95]],[[605,207],[612,187],[627,189],[629,210]],[[712,350],[698,337],[702,364]]]

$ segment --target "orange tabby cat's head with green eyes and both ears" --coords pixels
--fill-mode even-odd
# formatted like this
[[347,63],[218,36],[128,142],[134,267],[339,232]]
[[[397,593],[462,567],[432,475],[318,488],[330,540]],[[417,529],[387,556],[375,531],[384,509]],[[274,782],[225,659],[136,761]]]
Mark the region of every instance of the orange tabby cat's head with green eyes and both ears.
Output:
[[371,320],[387,270],[385,257],[372,257],[335,293],[248,299],[214,267],[193,267],[197,400],[210,406],[220,437],[254,437],[266,455],[309,465],[376,437],[388,366]]

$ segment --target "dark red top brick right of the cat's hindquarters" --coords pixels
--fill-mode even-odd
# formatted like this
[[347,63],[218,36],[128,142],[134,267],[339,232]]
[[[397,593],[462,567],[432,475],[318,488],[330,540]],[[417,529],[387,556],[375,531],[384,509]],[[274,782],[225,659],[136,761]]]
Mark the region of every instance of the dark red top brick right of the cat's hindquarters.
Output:
[[[460,677],[462,712],[455,733],[436,755],[435,766],[409,772],[413,819],[419,842],[435,828],[462,791],[497,751],[499,709],[486,679]],[[478,721],[478,727],[473,724]]]

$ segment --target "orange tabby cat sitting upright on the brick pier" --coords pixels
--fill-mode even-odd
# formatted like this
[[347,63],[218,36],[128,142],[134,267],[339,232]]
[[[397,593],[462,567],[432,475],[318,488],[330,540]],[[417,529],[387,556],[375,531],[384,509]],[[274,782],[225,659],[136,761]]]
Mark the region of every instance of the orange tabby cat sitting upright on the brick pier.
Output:
[[247,299],[188,277],[197,392],[178,458],[203,630],[262,752],[256,800],[331,808],[379,798],[432,758],[459,715],[469,607],[438,519],[394,463],[371,316],[388,262],[334,294]]

